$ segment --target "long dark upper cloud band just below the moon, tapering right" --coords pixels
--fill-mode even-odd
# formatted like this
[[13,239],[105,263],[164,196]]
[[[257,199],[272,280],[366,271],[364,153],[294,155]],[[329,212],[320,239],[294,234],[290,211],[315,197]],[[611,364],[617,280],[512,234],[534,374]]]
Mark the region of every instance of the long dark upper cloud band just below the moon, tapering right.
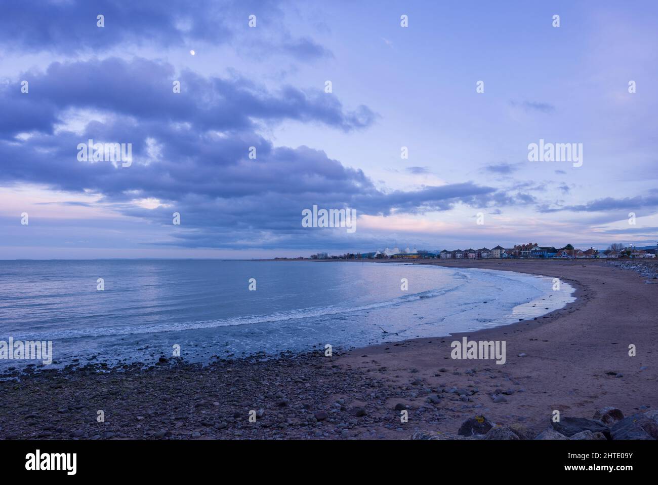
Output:
[[[191,71],[174,75],[174,67],[147,59],[52,63],[45,73],[26,72],[30,92],[19,85],[0,88],[0,136],[38,130],[52,133],[66,109],[96,109],[141,122],[191,123],[197,130],[243,130],[254,119],[295,119],[338,127],[365,128],[376,118],[367,106],[343,109],[333,94],[307,94],[292,86],[267,92],[244,78],[205,78]],[[180,81],[180,93],[172,91]]]

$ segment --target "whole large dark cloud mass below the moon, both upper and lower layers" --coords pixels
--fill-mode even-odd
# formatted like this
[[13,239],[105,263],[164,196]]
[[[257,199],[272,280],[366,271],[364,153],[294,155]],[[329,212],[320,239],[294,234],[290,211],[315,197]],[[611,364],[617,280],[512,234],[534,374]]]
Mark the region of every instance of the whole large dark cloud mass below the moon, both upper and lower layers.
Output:
[[[301,211],[349,207],[358,214],[450,210],[457,204],[502,206],[527,201],[472,182],[385,192],[357,169],[321,150],[276,147],[259,134],[263,123],[297,120],[338,130],[366,128],[374,113],[343,109],[335,96],[278,92],[243,78],[204,78],[185,71],[172,92],[174,69],[145,59],[53,63],[22,76],[30,93],[3,86],[0,101],[20,123],[0,125],[0,183],[36,183],[93,194],[99,206],[172,229],[156,244],[188,247],[311,247],[346,244],[345,234],[301,227]],[[79,110],[101,113],[82,132],[63,128]],[[27,132],[28,137],[16,134]],[[130,167],[78,161],[77,146],[131,143]],[[249,159],[250,146],[257,158]],[[158,200],[155,209],[136,204]],[[88,203],[70,202],[70,205]],[[160,231],[162,232],[162,231]],[[340,231],[339,231],[340,232]],[[357,238],[353,237],[351,243]],[[339,244],[340,245],[340,244]]]

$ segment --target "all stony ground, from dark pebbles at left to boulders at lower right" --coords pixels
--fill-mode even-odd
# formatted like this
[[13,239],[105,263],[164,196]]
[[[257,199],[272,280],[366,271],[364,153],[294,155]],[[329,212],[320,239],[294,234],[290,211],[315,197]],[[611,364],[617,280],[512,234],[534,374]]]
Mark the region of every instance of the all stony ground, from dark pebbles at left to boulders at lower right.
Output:
[[[592,419],[563,416],[552,422],[546,418],[547,428],[540,432],[522,422],[507,425],[478,414],[459,424],[450,411],[472,401],[478,388],[429,388],[418,380],[401,389],[371,372],[346,371],[336,365],[336,358],[340,355],[284,353],[276,360],[224,360],[208,366],[162,358],[149,368],[88,364],[35,372],[0,383],[5,397],[0,406],[0,438],[390,438],[382,429],[395,432],[397,439],[412,440],[658,438],[656,410],[624,417],[619,409],[606,407]],[[490,398],[497,402],[498,397],[513,393],[514,389],[503,389]],[[422,405],[407,404],[418,395],[424,396]],[[413,414],[410,422],[401,421],[403,411]],[[432,424],[442,420],[452,421],[453,432],[432,431]]]

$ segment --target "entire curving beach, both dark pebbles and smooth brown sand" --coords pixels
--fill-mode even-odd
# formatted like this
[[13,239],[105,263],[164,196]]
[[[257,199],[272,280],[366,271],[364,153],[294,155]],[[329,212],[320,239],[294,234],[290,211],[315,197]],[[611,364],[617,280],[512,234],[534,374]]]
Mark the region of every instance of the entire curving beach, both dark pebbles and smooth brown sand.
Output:
[[[608,406],[626,416],[658,409],[658,285],[601,261],[430,264],[437,263],[557,277],[576,288],[577,299],[532,321],[333,357],[318,348],[278,360],[200,366],[165,359],[147,369],[87,364],[22,374],[0,382],[0,438],[456,437],[474,416],[532,438],[554,410],[592,418]],[[505,341],[507,362],[450,358],[450,343],[463,336]]]

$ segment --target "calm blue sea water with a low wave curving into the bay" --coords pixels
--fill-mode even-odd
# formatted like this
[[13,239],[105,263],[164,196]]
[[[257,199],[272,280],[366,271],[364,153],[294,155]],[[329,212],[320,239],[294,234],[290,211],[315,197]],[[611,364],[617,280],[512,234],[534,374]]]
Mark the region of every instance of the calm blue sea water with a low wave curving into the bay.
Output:
[[[569,285],[552,286],[509,271],[406,264],[0,261],[0,340],[53,341],[60,365],[150,362],[176,344],[201,362],[362,347],[508,324],[574,300]],[[0,369],[28,363],[40,362],[0,360]]]

